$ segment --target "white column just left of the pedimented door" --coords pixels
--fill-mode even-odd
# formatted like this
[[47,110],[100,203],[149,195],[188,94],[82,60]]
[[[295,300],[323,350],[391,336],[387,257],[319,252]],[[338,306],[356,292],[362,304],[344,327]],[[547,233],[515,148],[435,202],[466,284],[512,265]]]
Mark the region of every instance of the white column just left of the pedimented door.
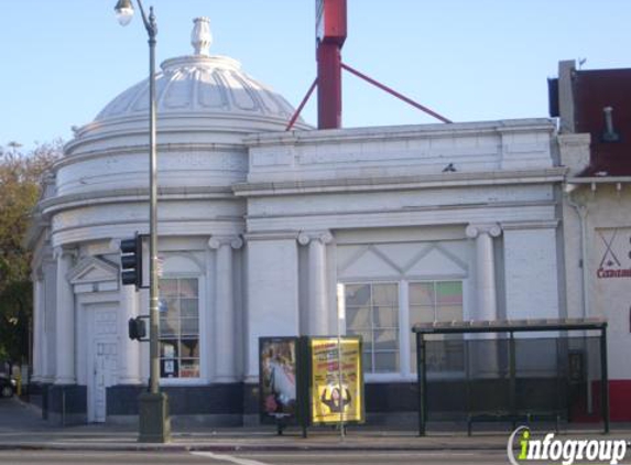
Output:
[[57,261],[57,301],[55,307],[56,374],[55,385],[74,385],[75,369],[75,294],[67,274],[73,267],[74,252],[55,248]]

